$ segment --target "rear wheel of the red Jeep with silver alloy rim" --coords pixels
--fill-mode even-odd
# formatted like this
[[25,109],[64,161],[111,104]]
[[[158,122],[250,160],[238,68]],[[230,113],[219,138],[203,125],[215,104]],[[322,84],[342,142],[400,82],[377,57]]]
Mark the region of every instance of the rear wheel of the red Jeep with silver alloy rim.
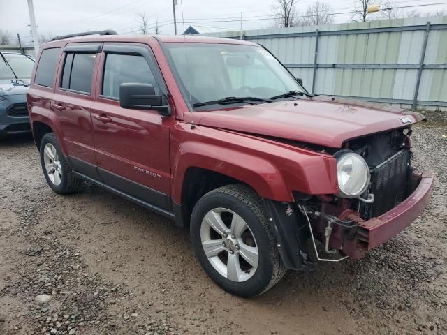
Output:
[[40,155],[43,174],[54,192],[65,195],[82,188],[82,179],[71,170],[54,133],[46,133],[42,137]]

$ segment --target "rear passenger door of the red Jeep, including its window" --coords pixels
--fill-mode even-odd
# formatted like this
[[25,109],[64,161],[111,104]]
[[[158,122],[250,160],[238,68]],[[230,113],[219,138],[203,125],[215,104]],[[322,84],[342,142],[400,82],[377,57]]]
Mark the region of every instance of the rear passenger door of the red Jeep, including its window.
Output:
[[52,110],[58,114],[68,160],[74,170],[96,179],[91,106],[101,47],[102,43],[66,45],[52,97]]

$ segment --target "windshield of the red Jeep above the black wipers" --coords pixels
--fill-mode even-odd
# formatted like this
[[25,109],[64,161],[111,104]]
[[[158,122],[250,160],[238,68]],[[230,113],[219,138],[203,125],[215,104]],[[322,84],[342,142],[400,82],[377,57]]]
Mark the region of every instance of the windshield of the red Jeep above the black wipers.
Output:
[[184,99],[191,105],[227,97],[267,100],[289,91],[305,92],[263,47],[167,43],[166,49]]

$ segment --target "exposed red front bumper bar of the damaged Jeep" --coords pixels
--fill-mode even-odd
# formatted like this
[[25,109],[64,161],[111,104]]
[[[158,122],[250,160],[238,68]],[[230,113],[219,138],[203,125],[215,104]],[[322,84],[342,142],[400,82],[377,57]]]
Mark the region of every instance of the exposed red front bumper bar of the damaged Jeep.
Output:
[[[362,220],[356,211],[339,211],[331,205],[323,205],[321,211],[356,223],[356,228],[337,227],[330,237],[330,247],[353,259],[365,257],[367,251],[402,232],[424,211],[430,200],[432,184],[432,172],[413,174],[414,188],[409,197],[390,211],[368,221]],[[325,222],[315,219],[313,223],[316,230],[322,232]]]

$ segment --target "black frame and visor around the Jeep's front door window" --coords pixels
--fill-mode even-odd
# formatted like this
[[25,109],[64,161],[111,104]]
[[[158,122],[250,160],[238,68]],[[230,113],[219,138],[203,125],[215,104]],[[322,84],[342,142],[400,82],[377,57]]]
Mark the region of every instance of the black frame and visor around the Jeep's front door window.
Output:
[[149,70],[151,70],[152,75],[154,75],[155,82],[159,86],[161,94],[163,94],[163,103],[168,105],[168,88],[166,87],[166,82],[164,81],[163,75],[161,75],[161,70],[159,64],[155,59],[154,52],[152,52],[152,49],[151,47],[149,47],[149,45],[140,43],[110,42],[104,43],[102,51],[105,55],[105,59],[101,68],[101,94],[98,94],[98,97],[119,102],[119,98],[115,98],[113,96],[105,96],[102,94],[105,74],[105,61],[107,59],[107,54],[127,54],[133,56],[142,56],[146,60],[147,65],[149,66]]

